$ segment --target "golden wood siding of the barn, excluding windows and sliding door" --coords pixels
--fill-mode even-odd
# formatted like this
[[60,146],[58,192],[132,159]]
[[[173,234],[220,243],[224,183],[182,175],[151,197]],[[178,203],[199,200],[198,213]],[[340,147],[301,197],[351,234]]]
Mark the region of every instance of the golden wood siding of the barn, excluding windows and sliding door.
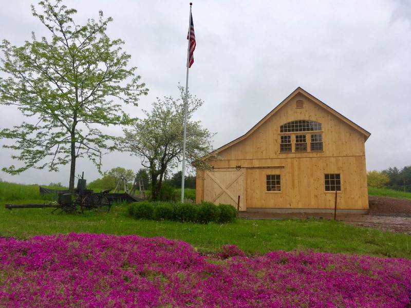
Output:
[[[296,101],[304,108],[295,108]],[[323,151],[310,152],[310,134],[315,132],[280,133],[279,127],[293,120],[313,120],[322,124]],[[308,152],[280,153],[279,136],[306,134]],[[311,101],[302,93],[256,128],[249,137],[218,152],[221,160],[209,161],[214,168],[240,165],[247,168],[247,208],[333,208],[335,194],[325,192],[324,174],[340,173],[342,191],[338,207],[367,209],[368,193],[365,166],[364,134],[334,114]],[[277,166],[284,168],[255,168]],[[235,170],[235,169],[234,169]],[[266,175],[280,174],[282,192],[266,192]],[[196,201],[204,199],[204,174],[197,171]]]

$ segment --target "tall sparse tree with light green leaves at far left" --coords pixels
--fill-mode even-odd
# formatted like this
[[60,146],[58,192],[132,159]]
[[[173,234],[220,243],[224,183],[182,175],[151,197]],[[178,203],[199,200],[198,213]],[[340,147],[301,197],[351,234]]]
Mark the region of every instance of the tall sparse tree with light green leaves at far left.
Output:
[[[104,151],[113,150],[113,137],[102,126],[128,125],[134,119],[122,111],[121,103],[137,106],[147,93],[136,67],[127,68],[130,55],[123,52],[120,39],[106,34],[112,18],[88,20],[78,25],[77,12],[45,0],[41,12],[32,13],[49,30],[40,40],[32,35],[21,47],[4,40],[0,71],[0,104],[15,105],[30,121],[0,130],[4,145],[19,152],[12,156],[23,166],[3,168],[20,174],[28,168],[58,171],[70,164],[69,188],[74,187],[76,160],[86,157],[100,170]],[[116,100],[116,102],[114,102]]]

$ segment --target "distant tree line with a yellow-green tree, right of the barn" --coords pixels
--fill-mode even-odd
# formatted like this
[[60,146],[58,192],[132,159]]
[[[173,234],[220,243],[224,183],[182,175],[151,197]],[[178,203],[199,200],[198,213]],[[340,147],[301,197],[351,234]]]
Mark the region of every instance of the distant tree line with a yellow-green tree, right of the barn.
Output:
[[402,169],[389,167],[382,171],[367,172],[368,186],[411,192],[411,166]]

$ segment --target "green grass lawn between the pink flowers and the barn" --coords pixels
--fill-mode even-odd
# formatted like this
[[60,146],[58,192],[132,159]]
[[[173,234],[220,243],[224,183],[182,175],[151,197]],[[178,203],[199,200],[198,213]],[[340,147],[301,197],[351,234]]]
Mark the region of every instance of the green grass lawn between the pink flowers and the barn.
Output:
[[[10,203],[41,203],[24,200]],[[8,202],[9,203],[9,202]],[[247,253],[309,248],[317,252],[367,254],[411,258],[411,237],[376,229],[346,225],[324,219],[247,220],[231,224],[193,224],[170,221],[135,220],[126,215],[126,205],[116,205],[110,213],[85,215],[50,214],[50,208],[13,209],[0,203],[0,236],[27,238],[57,233],[137,234],[181,239],[200,252],[235,244]]]

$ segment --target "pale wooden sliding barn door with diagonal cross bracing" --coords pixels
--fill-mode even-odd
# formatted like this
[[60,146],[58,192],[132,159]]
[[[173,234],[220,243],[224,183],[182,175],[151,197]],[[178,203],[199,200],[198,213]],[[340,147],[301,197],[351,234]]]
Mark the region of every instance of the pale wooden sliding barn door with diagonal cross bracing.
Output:
[[222,169],[206,171],[204,176],[204,200],[215,204],[231,204],[237,208],[240,196],[240,210],[246,210],[245,169]]

